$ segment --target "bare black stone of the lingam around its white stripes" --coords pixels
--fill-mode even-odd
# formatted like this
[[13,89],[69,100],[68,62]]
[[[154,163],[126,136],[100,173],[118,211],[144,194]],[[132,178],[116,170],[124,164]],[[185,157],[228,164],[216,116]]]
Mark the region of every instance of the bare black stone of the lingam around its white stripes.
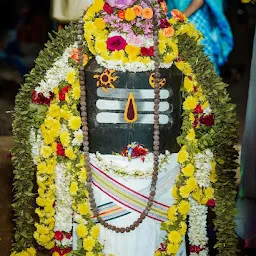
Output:
[[[143,144],[150,151],[153,148],[153,124],[141,124],[135,122],[133,124],[120,123],[120,124],[102,124],[98,123],[96,116],[104,110],[98,110],[96,102],[99,99],[97,96],[97,79],[93,78],[95,74],[101,74],[104,68],[100,67],[95,60],[92,60],[86,68],[86,87],[87,87],[87,108],[89,117],[89,140],[90,140],[90,152],[99,151],[101,153],[120,152],[122,148],[126,147],[130,142],[136,141]],[[149,77],[151,72],[116,72],[119,77],[114,85],[116,88],[127,88],[128,92],[132,92],[133,89],[151,89],[149,84]],[[182,84],[182,74],[173,65],[171,69],[161,70],[162,77],[166,78],[167,82],[163,89],[166,89],[170,93],[170,97],[167,100],[170,106],[169,110],[160,112],[160,114],[168,115],[172,121],[166,125],[160,125],[160,152],[169,150],[170,152],[177,152],[178,145],[176,142],[177,136],[180,134],[181,125],[181,95],[180,85]],[[127,92],[127,95],[128,95]],[[100,98],[107,100],[114,100],[114,98]],[[125,104],[127,98],[118,99],[124,103],[124,109],[119,111],[108,111],[120,113],[123,115],[125,111]],[[141,100],[136,99],[135,102],[140,103],[143,101],[153,102],[153,99]],[[143,112],[145,113],[145,112]],[[153,111],[147,112],[153,114]],[[141,112],[138,109],[138,118],[140,118]]]

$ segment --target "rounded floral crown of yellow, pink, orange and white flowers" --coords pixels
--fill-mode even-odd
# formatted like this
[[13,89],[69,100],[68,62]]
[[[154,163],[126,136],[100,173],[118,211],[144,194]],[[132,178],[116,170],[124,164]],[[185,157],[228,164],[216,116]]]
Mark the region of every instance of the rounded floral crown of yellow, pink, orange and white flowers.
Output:
[[85,39],[96,61],[120,71],[154,69],[153,14],[159,27],[160,67],[177,58],[175,24],[185,21],[177,10],[167,18],[164,0],[96,0],[84,16]]

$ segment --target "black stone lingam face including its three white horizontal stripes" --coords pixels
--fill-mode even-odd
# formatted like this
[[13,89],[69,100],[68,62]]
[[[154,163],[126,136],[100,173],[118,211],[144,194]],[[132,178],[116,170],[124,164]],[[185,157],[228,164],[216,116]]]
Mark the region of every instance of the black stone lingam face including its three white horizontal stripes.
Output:
[[[101,75],[104,68],[93,59],[85,69],[90,152],[102,154],[120,152],[136,141],[153,150],[154,90],[149,83],[152,72],[115,72],[118,76],[112,84],[115,89],[97,87],[94,75]],[[182,73],[173,65],[160,69],[161,79],[166,83],[160,91],[160,152],[178,151],[176,138],[181,126]],[[106,77],[104,77],[105,79]],[[108,86],[107,86],[108,87]],[[138,111],[134,123],[124,120],[124,112],[130,93],[133,94]],[[133,108],[128,112],[132,116]]]

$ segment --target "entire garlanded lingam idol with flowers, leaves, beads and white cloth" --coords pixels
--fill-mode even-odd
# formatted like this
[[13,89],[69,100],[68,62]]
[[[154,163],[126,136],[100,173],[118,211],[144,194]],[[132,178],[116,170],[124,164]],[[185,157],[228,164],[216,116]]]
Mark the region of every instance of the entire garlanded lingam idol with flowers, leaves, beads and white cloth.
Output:
[[235,255],[234,105],[171,12],[95,0],[41,52],[16,99],[13,256],[208,255],[209,207]]

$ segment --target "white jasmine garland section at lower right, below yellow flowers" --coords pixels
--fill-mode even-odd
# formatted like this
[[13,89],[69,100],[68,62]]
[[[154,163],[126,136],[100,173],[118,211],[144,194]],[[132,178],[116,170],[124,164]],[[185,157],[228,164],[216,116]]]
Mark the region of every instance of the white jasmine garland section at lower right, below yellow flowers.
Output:
[[[204,250],[205,254],[202,254],[202,255],[208,255],[207,212],[208,212],[208,207],[206,205],[201,205],[194,199],[190,198],[189,230],[188,230],[189,243],[192,246],[196,245],[196,246],[200,246],[201,248],[205,248]],[[193,254],[190,254],[190,255],[193,255]]]

